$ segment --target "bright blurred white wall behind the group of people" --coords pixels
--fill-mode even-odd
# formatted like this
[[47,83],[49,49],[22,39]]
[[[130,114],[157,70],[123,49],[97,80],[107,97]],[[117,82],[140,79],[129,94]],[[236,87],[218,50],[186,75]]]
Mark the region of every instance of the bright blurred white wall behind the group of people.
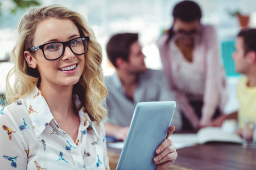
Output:
[[[63,1],[40,0],[43,5],[52,3],[61,4],[80,12],[92,25],[98,41],[105,54],[105,44],[109,37],[116,32],[138,32],[144,53],[147,56],[147,65],[159,68],[160,62],[155,41],[162,29],[170,27],[171,10],[180,0],[76,0]],[[216,25],[220,39],[234,38],[239,31],[236,18],[228,14],[228,10],[240,9],[242,12],[256,12],[254,0],[197,0],[203,11],[203,23]],[[5,1],[10,6],[11,1]],[[3,12],[0,18],[0,59],[10,52],[15,43],[16,27],[24,11],[16,15]],[[251,23],[256,22],[252,21]],[[154,62],[151,62],[154,61]],[[104,59],[103,66],[107,66]]]

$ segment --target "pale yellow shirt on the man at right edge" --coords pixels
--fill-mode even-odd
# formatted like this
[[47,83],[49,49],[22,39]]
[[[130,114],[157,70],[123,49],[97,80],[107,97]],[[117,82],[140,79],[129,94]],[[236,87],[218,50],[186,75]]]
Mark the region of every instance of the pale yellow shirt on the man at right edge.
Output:
[[247,77],[242,76],[237,84],[237,97],[240,104],[240,108],[238,110],[240,128],[243,126],[243,116],[247,116],[249,118],[256,116],[256,87],[248,87],[247,83]]

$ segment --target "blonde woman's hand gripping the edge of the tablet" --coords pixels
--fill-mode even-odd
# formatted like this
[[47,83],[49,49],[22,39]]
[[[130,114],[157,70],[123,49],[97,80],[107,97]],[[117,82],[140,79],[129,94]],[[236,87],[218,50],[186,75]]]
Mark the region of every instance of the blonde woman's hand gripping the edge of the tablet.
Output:
[[175,159],[177,158],[176,147],[172,145],[172,140],[169,138],[174,130],[175,127],[170,126],[166,139],[155,150],[157,155],[153,160],[156,164],[158,164],[156,167],[157,170],[167,169],[171,164],[174,163]]

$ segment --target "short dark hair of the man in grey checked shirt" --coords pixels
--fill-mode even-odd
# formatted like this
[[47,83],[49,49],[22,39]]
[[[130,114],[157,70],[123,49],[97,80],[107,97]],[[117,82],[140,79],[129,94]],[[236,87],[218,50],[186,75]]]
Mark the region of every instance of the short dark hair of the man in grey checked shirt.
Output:
[[138,41],[138,33],[118,33],[113,35],[106,45],[106,53],[110,62],[117,68],[115,59],[118,57],[129,61],[130,46]]

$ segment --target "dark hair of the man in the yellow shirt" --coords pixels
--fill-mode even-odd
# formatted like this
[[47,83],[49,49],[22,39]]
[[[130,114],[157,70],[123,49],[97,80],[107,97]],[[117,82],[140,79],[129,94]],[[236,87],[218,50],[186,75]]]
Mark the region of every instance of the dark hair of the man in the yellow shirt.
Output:
[[250,51],[254,51],[256,53],[255,28],[242,29],[242,31],[240,31],[237,36],[243,38],[243,49],[245,51],[245,55]]

